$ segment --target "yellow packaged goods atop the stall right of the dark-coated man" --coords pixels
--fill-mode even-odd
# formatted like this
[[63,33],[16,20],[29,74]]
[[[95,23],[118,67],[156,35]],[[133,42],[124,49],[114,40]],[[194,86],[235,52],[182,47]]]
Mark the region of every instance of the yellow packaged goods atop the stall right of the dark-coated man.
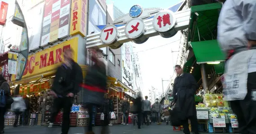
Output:
[[205,94],[203,102],[206,107],[224,107],[221,94]]

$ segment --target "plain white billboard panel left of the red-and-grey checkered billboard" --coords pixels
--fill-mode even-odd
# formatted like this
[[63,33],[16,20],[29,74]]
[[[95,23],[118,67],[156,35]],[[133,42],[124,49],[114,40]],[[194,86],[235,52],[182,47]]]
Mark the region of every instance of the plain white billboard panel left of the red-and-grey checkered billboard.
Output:
[[44,2],[31,8],[24,14],[28,30],[29,50],[34,50],[40,46],[43,14]]

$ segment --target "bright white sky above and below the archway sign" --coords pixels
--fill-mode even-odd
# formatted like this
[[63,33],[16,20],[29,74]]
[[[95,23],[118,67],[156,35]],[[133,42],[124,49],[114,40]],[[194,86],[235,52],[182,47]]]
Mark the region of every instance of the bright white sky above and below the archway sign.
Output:
[[[163,8],[167,9],[182,0],[106,0],[107,4],[114,2],[123,13],[128,13],[132,5],[140,4],[142,8]],[[177,52],[179,50],[181,34],[178,33],[172,38],[162,38],[160,36],[151,37],[143,44],[134,44],[134,52],[139,52],[139,63],[141,65],[141,75],[143,80],[143,96],[149,96],[151,86],[158,89],[157,94],[162,91],[163,80],[170,80],[173,75],[173,61],[177,61]],[[168,44],[168,45],[165,45]],[[157,48],[155,48],[157,47]],[[173,55],[173,58],[172,58]],[[163,87],[166,90],[169,82],[164,81]]]

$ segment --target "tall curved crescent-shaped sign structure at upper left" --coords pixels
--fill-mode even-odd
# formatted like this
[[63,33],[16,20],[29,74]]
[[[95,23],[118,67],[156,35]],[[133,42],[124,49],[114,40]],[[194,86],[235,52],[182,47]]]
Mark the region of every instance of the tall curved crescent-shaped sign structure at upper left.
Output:
[[15,0],[15,11],[14,11],[14,15],[12,18],[12,22],[13,22],[13,24],[22,27],[22,35],[21,35],[21,42],[19,45],[19,50],[11,49],[11,51],[18,53],[18,65],[17,65],[17,73],[16,73],[15,77],[16,77],[16,80],[21,80],[23,72],[26,67],[27,58],[28,58],[29,42],[28,42],[28,33],[27,33],[25,18],[22,14],[22,10],[21,10],[17,0]]

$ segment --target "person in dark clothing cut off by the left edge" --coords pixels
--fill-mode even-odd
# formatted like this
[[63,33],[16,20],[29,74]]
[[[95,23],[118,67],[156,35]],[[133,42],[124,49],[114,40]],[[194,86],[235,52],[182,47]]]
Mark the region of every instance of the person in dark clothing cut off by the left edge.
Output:
[[4,94],[1,94],[1,96],[5,97],[5,106],[0,107],[0,134],[4,134],[4,114],[12,105],[13,99],[11,98],[10,86],[3,75],[0,75],[0,90],[4,91]]

